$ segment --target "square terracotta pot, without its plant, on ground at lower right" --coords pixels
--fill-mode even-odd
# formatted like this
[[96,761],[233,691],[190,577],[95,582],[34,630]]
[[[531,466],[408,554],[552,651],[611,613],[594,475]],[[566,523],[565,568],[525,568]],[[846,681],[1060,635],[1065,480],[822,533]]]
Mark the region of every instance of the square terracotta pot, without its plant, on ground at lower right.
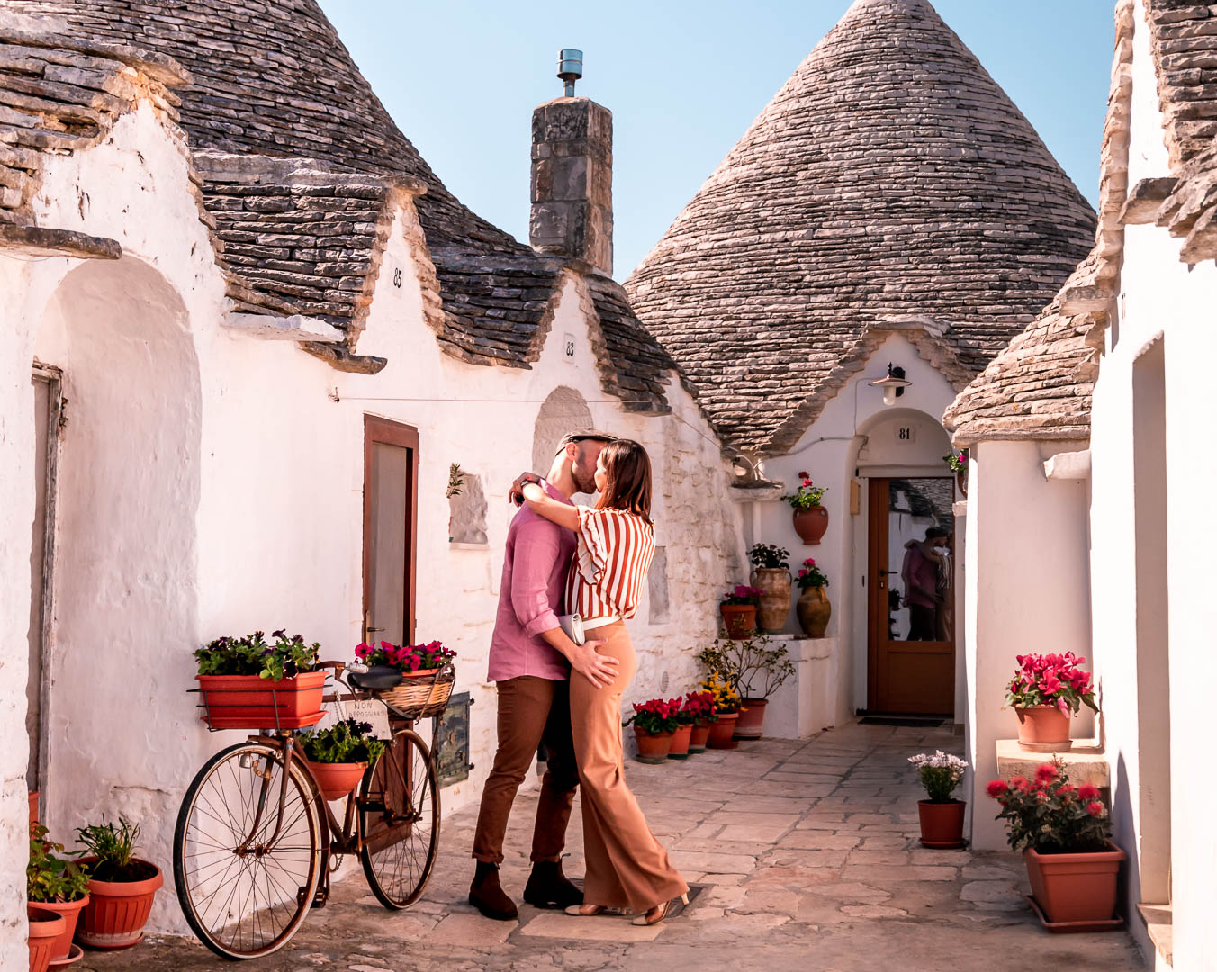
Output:
[[1120,865],[1128,856],[1110,841],[1090,854],[1023,852],[1031,894],[1051,922],[1107,921],[1116,912]]

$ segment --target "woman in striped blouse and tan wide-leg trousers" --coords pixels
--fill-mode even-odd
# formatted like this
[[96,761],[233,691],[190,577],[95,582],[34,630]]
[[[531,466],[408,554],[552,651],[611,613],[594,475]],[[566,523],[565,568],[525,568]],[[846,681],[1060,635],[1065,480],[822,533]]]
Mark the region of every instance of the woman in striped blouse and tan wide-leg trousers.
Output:
[[688,901],[689,886],[668,861],[626,786],[621,747],[621,698],[638,663],[626,619],[638,608],[655,552],[651,523],[651,461],[636,442],[608,443],[596,462],[600,501],[594,509],[550,499],[537,483],[525,500],[540,516],[574,530],[578,551],[567,581],[567,608],[579,616],[588,641],[618,662],[617,676],[601,687],[571,673],[571,727],[583,786],[587,858],[582,905],[570,915],[629,908],[634,925],[668,916],[673,899]]

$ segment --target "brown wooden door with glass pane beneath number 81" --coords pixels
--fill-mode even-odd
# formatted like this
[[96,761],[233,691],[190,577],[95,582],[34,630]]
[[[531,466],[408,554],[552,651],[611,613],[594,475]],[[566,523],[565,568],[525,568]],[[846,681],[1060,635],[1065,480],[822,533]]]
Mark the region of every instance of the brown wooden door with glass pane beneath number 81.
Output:
[[867,709],[953,715],[954,481],[874,478],[869,500]]

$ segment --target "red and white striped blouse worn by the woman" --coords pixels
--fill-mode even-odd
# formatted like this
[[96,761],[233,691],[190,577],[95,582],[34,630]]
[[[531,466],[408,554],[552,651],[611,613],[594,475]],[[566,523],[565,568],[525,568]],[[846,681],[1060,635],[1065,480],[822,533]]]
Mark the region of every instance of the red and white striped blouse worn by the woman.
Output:
[[624,510],[576,509],[579,546],[566,581],[566,609],[584,622],[633,618],[655,554],[655,528]]

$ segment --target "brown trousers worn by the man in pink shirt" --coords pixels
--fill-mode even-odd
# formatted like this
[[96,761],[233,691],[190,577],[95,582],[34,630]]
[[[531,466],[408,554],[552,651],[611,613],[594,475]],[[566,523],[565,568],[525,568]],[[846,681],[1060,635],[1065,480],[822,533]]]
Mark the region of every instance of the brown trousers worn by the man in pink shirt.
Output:
[[511,804],[542,741],[549,749],[549,762],[537,804],[532,860],[556,861],[566,847],[566,825],[579,785],[571,741],[570,682],[535,675],[500,681],[499,748],[482,791],[473,833],[473,856],[479,861],[503,863]]

